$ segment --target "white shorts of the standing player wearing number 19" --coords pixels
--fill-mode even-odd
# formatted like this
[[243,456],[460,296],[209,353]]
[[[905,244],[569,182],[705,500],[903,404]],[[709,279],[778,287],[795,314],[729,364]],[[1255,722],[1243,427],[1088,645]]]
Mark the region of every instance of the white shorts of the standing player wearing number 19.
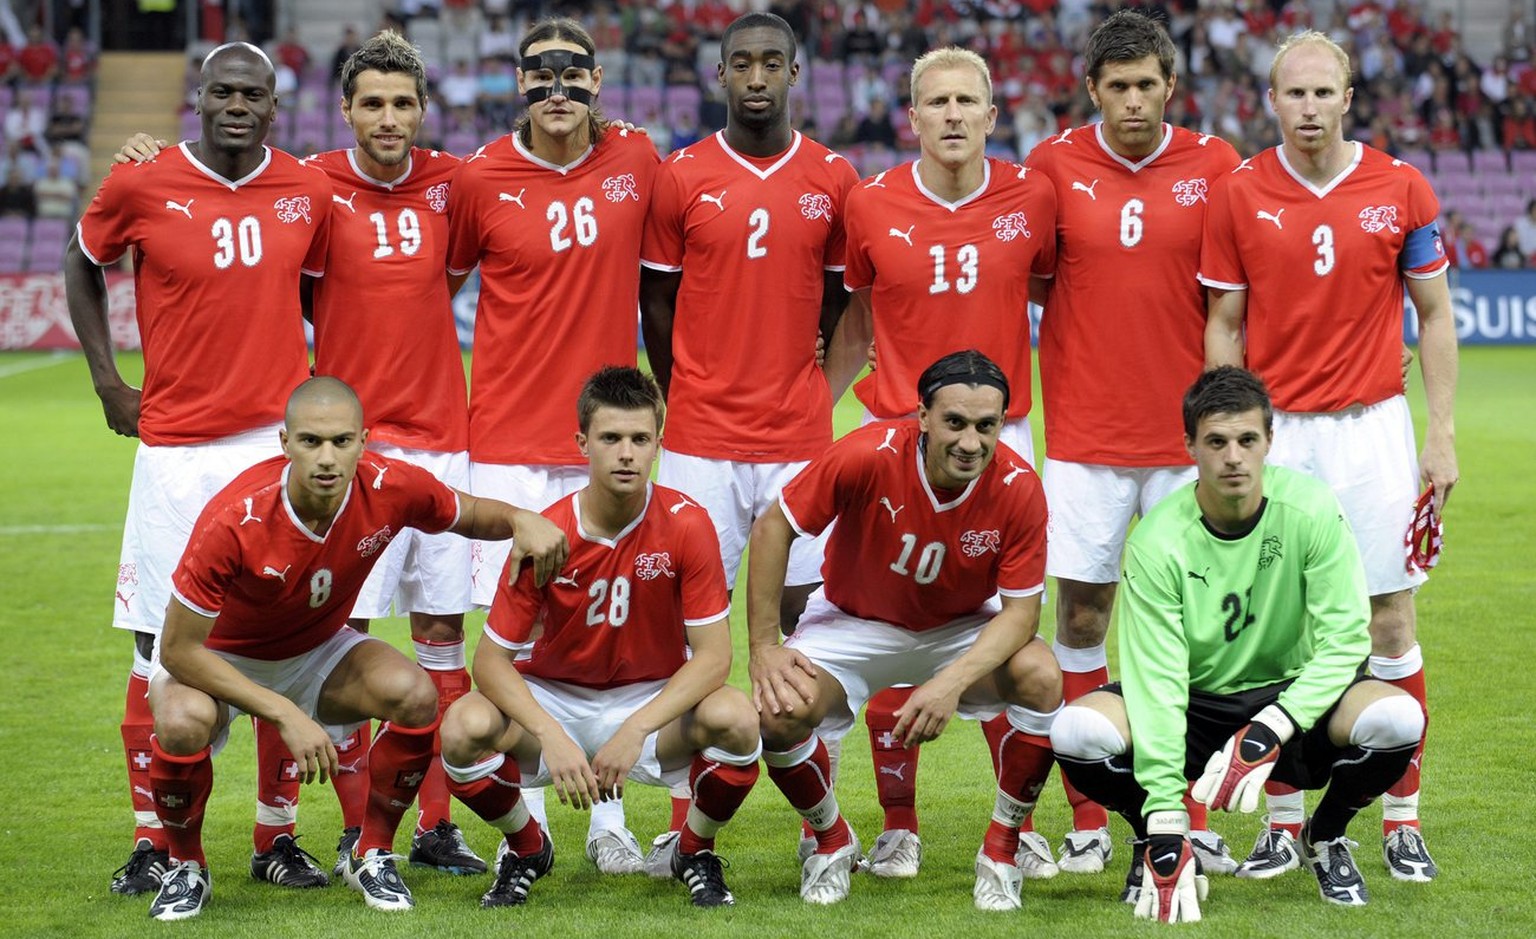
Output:
[[[465,452],[412,450],[395,444],[369,444],[369,450],[415,463],[453,489],[468,492],[470,458]],[[427,535],[406,529],[384,549],[369,579],[362,582],[356,619],[406,613],[465,613],[470,599],[470,541],[449,532]]]

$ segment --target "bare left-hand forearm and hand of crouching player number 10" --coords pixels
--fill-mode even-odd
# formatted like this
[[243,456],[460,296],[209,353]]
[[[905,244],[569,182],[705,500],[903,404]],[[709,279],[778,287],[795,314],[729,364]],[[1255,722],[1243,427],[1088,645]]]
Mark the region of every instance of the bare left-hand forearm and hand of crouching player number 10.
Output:
[[746,673],[759,712],[794,713],[816,696],[816,665],[782,645],[779,610],[794,529],[777,503],[753,524],[746,553]]

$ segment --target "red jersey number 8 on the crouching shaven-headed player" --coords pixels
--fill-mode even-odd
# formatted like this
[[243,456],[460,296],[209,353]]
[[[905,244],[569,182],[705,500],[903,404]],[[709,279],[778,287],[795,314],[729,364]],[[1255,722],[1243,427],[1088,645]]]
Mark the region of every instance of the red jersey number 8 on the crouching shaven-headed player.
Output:
[[427,470],[366,453],[330,529],[315,535],[287,499],[289,461],[235,476],[197,519],[172,590],[217,616],[207,647],[252,659],[315,649],[347,624],[362,581],[401,529],[442,532],[459,496]]

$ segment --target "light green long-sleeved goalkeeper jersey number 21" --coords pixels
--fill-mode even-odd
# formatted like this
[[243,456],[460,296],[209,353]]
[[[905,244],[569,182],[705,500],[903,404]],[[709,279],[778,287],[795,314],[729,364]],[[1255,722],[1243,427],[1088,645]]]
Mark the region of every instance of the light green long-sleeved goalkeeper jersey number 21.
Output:
[[1146,811],[1180,810],[1190,690],[1232,695],[1295,679],[1279,707],[1309,730],[1370,655],[1355,535],[1327,484],[1264,467],[1253,527],[1206,526],[1195,486],[1126,542],[1120,673]]

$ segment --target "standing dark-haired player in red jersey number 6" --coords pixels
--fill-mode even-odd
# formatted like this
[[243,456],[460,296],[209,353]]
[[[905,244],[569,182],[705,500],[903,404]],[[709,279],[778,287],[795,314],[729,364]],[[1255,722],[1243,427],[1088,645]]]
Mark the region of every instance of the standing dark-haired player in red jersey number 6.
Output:
[[[1163,121],[1178,75],[1160,23],[1117,12],[1089,37],[1086,60],[1103,120],[1041,141],[1025,161],[1057,192],[1055,278],[1040,284],[1040,383],[1048,573],[1058,589],[1052,652],[1068,701],[1109,681],[1104,638],[1130,519],[1193,479],[1178,401],[1204,361],[1200,237],[1210,184],[1238,164],[1224,140]],[[1124,301],[1127,283],[1137,286],[1134,304]],[[1138,393],[1126,397],[1126,387]],[[1114,853],[1107,816],[1066,788],[1072,831],[1060,870],[1100,871]],[[1206,873],[1232,873],[1204,805],[1190,801],[1190,815]],[[1026,876],[1054,873],[1044,839],[1026,833],[1025,844]]]

